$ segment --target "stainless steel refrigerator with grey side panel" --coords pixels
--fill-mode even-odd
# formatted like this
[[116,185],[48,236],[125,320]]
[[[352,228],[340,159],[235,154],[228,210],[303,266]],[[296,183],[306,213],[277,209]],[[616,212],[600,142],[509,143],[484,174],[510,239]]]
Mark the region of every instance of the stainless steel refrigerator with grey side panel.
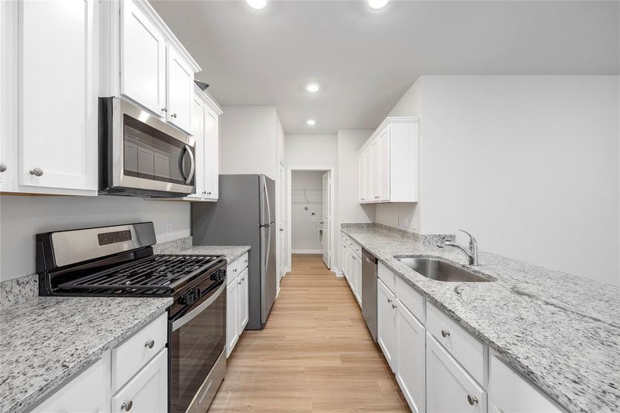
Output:
[[277,284],[275,181],[264,175],[220,175],[217,202],[192,202],[194,245],[249,245],[250,330],[265,326]]

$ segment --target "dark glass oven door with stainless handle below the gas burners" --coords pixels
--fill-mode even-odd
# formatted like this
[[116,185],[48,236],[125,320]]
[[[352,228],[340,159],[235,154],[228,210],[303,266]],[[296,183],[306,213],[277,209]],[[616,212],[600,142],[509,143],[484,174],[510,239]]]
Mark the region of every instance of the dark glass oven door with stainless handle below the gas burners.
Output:
[[170,324],[170,412],[182,413],[226,348],[226,279]]

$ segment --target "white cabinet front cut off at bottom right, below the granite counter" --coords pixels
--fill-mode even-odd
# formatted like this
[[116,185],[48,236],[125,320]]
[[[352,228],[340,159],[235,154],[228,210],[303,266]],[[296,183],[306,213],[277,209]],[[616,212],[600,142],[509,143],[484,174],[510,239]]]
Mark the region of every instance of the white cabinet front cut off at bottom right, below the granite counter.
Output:
[[489,354],[489,405],[489,412],[564,412],[497,354]]

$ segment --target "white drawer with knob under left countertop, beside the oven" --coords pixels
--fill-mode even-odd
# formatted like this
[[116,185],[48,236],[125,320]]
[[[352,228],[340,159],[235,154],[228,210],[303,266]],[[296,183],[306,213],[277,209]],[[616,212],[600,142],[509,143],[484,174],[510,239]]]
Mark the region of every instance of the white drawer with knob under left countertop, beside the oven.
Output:
[[[145,366],[168,341],[168,314],[160,315],[112,349],[112,392],[122,387]],[[151,347],[152,343],[152,347]]]

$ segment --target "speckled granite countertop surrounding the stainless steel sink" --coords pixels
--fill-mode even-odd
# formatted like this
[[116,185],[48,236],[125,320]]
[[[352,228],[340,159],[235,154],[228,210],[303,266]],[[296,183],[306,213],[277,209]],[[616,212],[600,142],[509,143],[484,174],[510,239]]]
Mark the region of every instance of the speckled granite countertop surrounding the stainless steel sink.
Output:
[[[484,252],[474,269],[456,248],[370,226],[342,231],[568,412],[620,412],[620,287]],[[440,257],[497,281],[434,281],[394,255]]]

